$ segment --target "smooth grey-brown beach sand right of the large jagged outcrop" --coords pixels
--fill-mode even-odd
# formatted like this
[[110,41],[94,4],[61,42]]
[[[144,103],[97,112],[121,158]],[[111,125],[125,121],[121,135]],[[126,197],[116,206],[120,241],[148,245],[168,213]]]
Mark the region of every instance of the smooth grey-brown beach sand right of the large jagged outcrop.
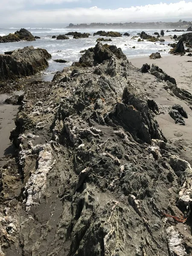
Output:
[[[149,57],[131,59],[131,63],[141,68],[143,64],[157,64],[168,75],[173,76],[177,81],[177,86],[188,90],[192,93],[192,62],[187,62],[192,57],[189,56],[174,56],[168,55],[163,58],[151,60]],[[157,79],[150,74],[142,75],[141,90],[148,95],[148,98],[154,99],[160,105],[160,115],[156,119],[163,131],[163,134],[179,148],[183,149],[184,159],[192,163],[192,110],[189,104],[183,100],[178,99],[176,96],[171,96],[166,90],[163,89],[164,82],[157,83]],[[169,116],[169,109],[174,104],[180,104],[188,113],[189,118],[185,119],[186,125],[182,126],[175,124],[175,121]]]

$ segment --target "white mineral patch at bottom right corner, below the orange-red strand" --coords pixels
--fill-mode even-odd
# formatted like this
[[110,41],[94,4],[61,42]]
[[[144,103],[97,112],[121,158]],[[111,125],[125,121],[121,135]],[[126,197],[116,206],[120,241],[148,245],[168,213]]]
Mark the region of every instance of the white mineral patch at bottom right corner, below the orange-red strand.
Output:
[[181,239],[180,234],[175,231],[174,226],[167,228],[167,241],[169,246],[169,252],[171,256],[185,256],[187,255],[184,241]]

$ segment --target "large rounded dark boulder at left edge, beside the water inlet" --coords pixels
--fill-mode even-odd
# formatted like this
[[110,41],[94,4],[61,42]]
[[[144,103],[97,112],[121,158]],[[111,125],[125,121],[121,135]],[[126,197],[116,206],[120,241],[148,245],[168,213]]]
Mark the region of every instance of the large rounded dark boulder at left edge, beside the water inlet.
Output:
[[11,55],[0,55],[0,84],[22,76],[31,76],[49,66],[51,55],[45,49],[24,47]]

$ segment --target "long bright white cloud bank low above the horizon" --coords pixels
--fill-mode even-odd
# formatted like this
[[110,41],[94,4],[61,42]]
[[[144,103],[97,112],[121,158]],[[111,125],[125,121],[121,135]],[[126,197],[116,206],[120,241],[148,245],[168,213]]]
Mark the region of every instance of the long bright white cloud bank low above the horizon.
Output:
[[[17,1],[22,5],[25,0]],[[52,0],[43,2],[50,1]],[[8,2],[13,2],[13,0],[8,0]],[[190,17],[192,17],[192,2],[180,1],[179,3],[159,3],[119,9],[100,9],[93,6],[91,8],[38,10],[38,6],[36,6],[36,10],[17,10],[14,11],[14,14],[6,13],[3,21],[4,23],[8,23],[8,21],[9,23],[90,23],[157,19],[160,21],[164,18]]]

